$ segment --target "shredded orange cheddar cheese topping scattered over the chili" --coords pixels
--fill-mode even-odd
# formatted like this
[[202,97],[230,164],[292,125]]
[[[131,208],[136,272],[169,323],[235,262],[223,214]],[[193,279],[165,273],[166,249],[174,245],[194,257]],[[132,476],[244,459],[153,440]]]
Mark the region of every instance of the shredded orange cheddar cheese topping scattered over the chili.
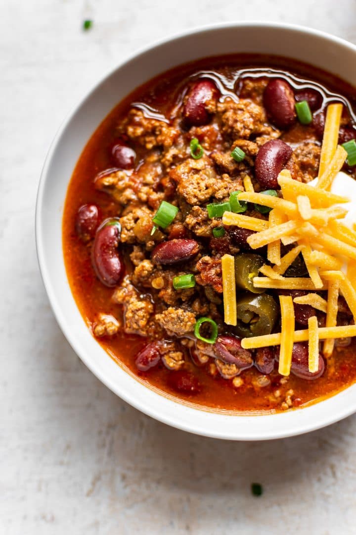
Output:
[[[350,200],[329,191],[333,180],[341,170],[347,153],[337,145],[342,104],[331,104],[327,109],[326,125],[322,141],[319,175],[315,185],[302,184],[291,178],[290,172],[281,171],[278,184],[281,196],[274,197],[254,192],[249,179],[244,180],[246,191],[239,201],[257,203],[269,207],[269,220],[225,212],[224,225],[236,225],[255,231],[248,238],[252,249],[267,246],[267,259],[271,265],[263,265],[263,276],[253,279],[256,288],[304,289],[305,296],[296,297],[295,303],[311,304],[326,313],[326,326],[319,327],[317,317],[310,318],[308,329],[295,330],[294,307],[290,296],[280,296],[281,333],[244,338],[243,348],[252,349],[280,345],[279,373],[288,376],[291,366],[293,342],[307,341],[310,372],[318,370],[319,341],[323,340],[323,355],[333,353],[335,338],[356,336],[356,326],[337,326],[337,301],[343,295],[356,318],[356,230],[345,224]],[[281,257],[281,243],[294,247]],[[308,277],[287,278],[283,274],[302,254]],[[230,255],[225,255],[230,256]],[[231,258],[223,257],[223,280],[228,280],[227,266],[233,269]],[[346,266],[346,269],[345,269]],[[236,325],[236,292],[232,283],[225,282],[225,310],[232,310],[225,322]],[[226,288],[226,291],[225,291]],[[327,299],[318,295],[326,290]]]

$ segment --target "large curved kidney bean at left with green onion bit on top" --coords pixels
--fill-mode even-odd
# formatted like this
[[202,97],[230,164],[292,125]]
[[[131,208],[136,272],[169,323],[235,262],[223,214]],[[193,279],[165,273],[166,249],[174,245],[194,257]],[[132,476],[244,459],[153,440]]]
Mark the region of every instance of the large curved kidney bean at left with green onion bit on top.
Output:
[[92,264],[99,280],[105,286],[116,286],[124,272],[124,263],[118,250],[121,225],[117,218],[105,219],[98,228],[92,246]]

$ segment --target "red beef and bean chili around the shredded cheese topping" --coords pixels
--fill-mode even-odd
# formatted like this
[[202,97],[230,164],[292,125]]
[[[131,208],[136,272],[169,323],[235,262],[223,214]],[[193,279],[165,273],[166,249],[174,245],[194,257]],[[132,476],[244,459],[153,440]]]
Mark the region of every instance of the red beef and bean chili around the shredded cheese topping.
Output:
[[[308,124],[296,114],[303,101]],[[278,292],[251,287],[266,260],[264,248],[248,247],[252,231],[221,224],[230,201],[240,210],[232,194],[246,174],[256,191],[276,190],[283,168],[303,182],[317,176],[330,102],[344,104],[339,142],[355,138],[354,91],[343,81],[286,58],[213,57],[139,87],[90,137],[64,209],[67,276],[93,336],[147,386],[208,409],[279,411],[355,380],[349,340],[336,341],[327,362],[320,356],[315,374],[307,346],[295,344],[289,377],[278,374],[278,348],[241,348],[244,336],[280,332]],[[236,327],[224,323],[226,253],[235,257]],[[289,270],[305,275],[302,258]],[[295,305],[296,328],[315,314],[322,325],[322,312]],[[200,318],[213,324],[197,330]],[[351,321],[342,301],[338,321]],[[201,340],[212,341],[215,325],[215,343]]]

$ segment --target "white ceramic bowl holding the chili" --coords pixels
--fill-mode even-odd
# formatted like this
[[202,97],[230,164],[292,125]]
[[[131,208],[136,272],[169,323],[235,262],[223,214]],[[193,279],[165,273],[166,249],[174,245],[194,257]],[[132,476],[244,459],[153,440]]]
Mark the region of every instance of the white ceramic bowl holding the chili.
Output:
[[102,79],[60,128],[42,172],[36,208],[39,265],[58,323],[88,368],[137,409],[186,431],[233,440],[288,437],[336,422],[356,411],[356,385],[325,401],[282,414],[241,416],[188,407],[145,387],[115,364],[94,340],[68,285],[61,220],[74,166],[91,134],[124,96],[181,63],[230,52],[283,55],[316,65],[356,86],[356,47],[297,26],[245,22],[191,30],[136,53]]

